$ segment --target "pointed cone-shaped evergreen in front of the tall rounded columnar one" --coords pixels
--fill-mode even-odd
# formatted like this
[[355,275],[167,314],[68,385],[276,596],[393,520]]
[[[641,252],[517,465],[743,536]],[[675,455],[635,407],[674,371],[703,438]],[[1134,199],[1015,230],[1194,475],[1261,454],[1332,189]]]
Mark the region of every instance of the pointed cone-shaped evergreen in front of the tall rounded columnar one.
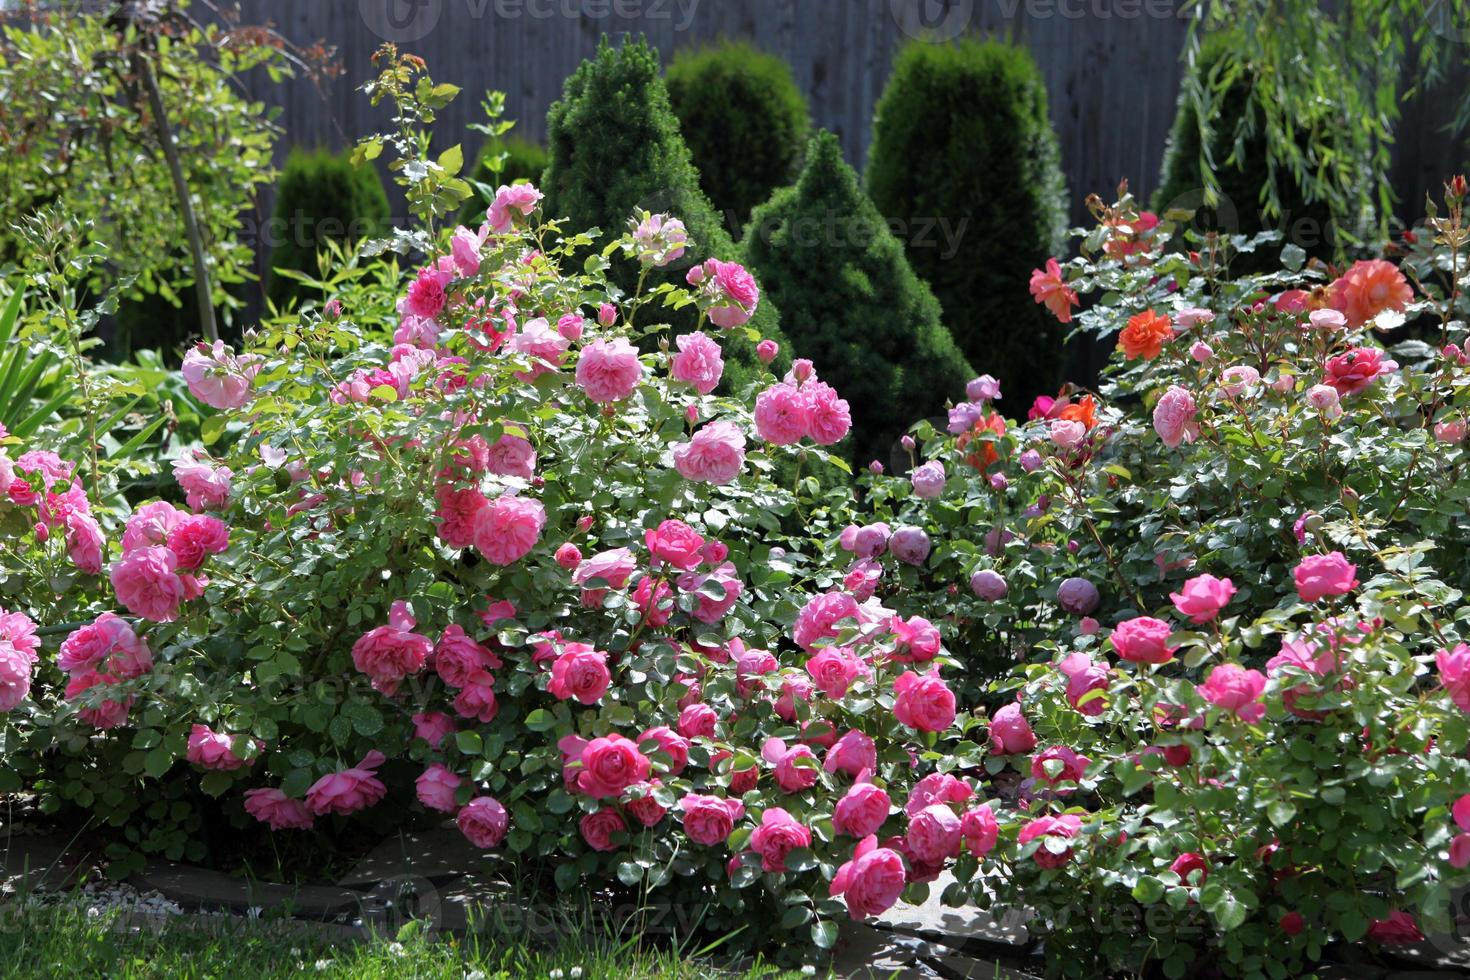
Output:
[[939,303],[831,132],[811,140],[795,187],[756,209],[744,244],[795,356],[810,357],[851,406],[856,463],[889,463],[910,423],[964,397],[973,372]]

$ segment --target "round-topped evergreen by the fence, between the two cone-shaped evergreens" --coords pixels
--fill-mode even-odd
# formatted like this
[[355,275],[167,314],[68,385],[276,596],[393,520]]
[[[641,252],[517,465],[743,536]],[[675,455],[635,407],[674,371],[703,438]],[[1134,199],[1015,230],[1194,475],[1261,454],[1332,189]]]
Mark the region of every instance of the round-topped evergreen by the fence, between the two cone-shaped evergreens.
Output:
[[784,60],[744,41],[686,48],[664,84],[700,187],[720,213],[744,220],[795,179],[811,116]]

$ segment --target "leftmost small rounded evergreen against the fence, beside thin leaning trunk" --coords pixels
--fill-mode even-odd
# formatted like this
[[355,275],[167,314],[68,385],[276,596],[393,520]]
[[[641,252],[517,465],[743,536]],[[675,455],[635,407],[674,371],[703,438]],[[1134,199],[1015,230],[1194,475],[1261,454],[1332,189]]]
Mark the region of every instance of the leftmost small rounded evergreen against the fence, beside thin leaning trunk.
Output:
[[270,279],[268,295],[278,307],[322,297],[297,279],[294,269],[319,273],[318,251],[325,241],[376,238],[388,226],[388,192],[370,165],[354,165],[329,150],[293,150],[276,185],[270,220]]

